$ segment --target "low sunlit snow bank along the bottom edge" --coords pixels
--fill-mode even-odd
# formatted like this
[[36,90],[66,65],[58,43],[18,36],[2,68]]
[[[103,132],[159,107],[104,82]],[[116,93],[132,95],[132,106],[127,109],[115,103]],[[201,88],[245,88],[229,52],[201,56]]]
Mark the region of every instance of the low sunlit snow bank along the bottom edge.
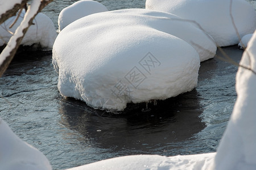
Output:
[[161,169],[161,170],[177,170],[177,169],[208,169],[212,163],[216,153],[200,154],[200,155],[178,155],[178,156],[160,156],[160,155],[132,155],[122,156],[102,160],[100,162],[82,165],[67,170],[84,170],[84,169],[104,169],[104,170],[130,170],[130,169]]

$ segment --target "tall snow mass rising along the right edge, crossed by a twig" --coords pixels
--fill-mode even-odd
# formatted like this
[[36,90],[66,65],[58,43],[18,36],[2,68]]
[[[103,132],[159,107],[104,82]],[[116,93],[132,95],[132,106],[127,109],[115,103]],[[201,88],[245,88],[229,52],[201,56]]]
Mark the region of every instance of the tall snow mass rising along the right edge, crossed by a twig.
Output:
[[256,167],[256,32],[243,52],[240,65],[236,77],[237,101],[217,150],[215,169]]

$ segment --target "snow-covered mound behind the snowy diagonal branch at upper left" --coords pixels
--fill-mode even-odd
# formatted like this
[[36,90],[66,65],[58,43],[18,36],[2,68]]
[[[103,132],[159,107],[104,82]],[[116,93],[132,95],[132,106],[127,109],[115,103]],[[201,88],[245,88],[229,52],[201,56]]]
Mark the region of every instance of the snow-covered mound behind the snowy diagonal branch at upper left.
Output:
[[[25,15],[23,10],[20,14],[17,22],[12,28],[9,28],[14,23],[16,16],[7,19],[0,27],[0,46],[7,44],[10,40],[12,33],[15,32],[16,28],[20,25]],[[24,36],[20,45],[31,46],[40,45],[42,48],[52,49],[53,43],[57,37],[57,32],[51,19],[48,16],[39,13],[33,20],[33,25],[28,28],[26,35]]]

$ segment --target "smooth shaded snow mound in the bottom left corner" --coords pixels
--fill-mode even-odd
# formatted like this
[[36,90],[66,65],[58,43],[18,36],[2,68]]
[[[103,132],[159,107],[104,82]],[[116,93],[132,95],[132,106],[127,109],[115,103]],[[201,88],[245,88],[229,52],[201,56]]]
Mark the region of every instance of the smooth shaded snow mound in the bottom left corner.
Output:
[[0,169],[51,169],[46,156],[23,142],[0,117]]

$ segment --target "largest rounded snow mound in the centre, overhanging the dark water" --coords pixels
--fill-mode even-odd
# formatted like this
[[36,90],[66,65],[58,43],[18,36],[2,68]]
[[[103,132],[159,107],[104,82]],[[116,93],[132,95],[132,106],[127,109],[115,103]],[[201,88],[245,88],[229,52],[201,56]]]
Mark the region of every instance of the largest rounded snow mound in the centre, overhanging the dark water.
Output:
[[147,10],[88,15],[60,32],[52,62],[61,95],[94,108],[122,111],[127,103],[164,100],[197,85],[196,50],[144,24],[161,12],[140,11]]

